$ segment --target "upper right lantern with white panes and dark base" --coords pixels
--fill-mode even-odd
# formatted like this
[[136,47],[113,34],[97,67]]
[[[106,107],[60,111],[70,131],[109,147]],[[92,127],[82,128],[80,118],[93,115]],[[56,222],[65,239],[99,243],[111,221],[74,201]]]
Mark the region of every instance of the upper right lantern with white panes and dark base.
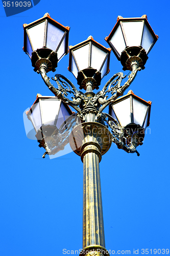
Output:
[[158,36],[152,30],[147,15],[141,18],[117,17],[117,23],[109,36],[105,37],[117,59],[121,61],[123,70],[131,70],[131,65],[127,61],[130,57],[140,56],[138,65],[144,69],[151,51]]

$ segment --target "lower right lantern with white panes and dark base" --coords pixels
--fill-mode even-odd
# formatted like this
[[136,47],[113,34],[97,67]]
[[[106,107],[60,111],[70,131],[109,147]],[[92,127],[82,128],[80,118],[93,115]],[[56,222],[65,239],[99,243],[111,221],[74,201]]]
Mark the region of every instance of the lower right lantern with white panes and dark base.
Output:
[[143,144],[144,131],[150,124],[151,101],[136,96],[132,90],[109,105],[109,114],[124,127],[124,141],[135,147]]

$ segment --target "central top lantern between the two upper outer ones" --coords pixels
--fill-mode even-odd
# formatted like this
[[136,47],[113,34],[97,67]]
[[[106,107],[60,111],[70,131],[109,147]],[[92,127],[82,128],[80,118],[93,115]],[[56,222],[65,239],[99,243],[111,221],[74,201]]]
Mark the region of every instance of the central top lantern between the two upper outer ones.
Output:
[[[77,78],[80,89],[86,90],[87,77],[95,78],[93,89],[99,89],[101,79],[109,73],[110,48],[96,42],[92,36],[76,46],[69,47],[68,70]],[[84,81],[84,82],[82,82]]]

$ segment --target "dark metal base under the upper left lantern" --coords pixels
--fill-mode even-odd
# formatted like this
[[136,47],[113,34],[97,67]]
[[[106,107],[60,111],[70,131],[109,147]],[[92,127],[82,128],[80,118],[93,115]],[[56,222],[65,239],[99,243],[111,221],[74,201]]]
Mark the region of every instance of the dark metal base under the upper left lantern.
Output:
[[41,67],[46,69],[46,73],[49,71],[55,72],[58,63],[57,53],[46,47],[37,49],[32,53],[31,62],[35,72]]

